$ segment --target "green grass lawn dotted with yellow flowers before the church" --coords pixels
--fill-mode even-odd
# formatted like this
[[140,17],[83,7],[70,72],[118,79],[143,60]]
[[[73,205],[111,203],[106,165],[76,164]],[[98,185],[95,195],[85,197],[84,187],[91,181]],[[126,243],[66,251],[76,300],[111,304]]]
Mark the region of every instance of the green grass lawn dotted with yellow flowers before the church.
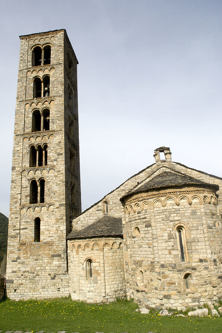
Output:
[[86,304],[68,298],[43,301],[0,302],[0,330],[58,332],[130,332],[147,333],[221,333],[222,318],[161,317],[135,312],[137,304],[117,301],[110,304]]

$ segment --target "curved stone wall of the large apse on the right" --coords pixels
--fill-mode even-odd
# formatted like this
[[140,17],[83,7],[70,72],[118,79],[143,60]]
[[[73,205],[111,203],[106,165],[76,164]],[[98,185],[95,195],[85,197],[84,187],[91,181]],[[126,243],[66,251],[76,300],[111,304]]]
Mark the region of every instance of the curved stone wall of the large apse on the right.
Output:
[[[214,192],[185,187],[135,194],[127,199],[123,224],[128,296],[181,309],[221,299],[222,225]],[[179,226],[185,230],[185,262]]]

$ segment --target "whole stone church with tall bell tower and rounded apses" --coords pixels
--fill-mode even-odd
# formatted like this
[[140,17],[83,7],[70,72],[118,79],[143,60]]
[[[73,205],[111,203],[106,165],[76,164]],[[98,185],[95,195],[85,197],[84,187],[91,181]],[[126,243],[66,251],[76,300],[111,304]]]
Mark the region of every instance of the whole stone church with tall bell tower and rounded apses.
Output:
[[160,147],[81,213],[77,58],[64,29],[20,39],[8,297],[179,309],[221,299],[222,178]]

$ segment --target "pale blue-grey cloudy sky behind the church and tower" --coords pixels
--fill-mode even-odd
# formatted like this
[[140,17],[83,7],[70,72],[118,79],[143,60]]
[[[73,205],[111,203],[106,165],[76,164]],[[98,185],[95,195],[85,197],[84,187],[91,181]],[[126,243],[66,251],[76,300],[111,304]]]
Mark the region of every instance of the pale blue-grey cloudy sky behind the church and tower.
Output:
[[0,212],[9,216],[20,39],[66,29],[78,65],[82,210],[155,162],[222,176],[222,1],[1,1]]

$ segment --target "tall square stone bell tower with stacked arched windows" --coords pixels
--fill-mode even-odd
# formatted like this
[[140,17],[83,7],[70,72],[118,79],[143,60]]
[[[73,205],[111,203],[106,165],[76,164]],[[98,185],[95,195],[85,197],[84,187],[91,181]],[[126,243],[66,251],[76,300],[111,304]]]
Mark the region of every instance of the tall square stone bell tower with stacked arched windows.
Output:
[[20,39],[7,295],[67,296],[66,235],[81,212],[78,61],[65,29]]

